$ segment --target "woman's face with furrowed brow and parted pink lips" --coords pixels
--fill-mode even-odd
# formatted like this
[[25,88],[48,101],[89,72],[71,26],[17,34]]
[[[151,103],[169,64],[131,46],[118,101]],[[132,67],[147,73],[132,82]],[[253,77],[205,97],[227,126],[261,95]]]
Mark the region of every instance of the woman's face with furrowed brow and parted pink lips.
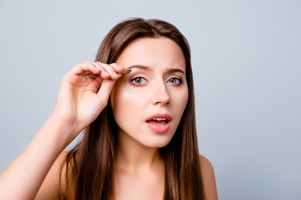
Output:
[[116,81],[110,94],[118,134],[147,147],[166,146],[188,101],[182,50],[168,38],[138,38],[116,63],[132,70]]

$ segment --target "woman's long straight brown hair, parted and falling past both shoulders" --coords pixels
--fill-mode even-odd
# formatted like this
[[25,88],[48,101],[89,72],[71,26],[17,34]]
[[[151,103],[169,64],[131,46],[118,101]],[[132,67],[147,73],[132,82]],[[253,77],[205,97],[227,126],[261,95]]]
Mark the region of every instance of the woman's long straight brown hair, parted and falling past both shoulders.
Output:
[[[191,53],[186,38],[174,25],[162,20],[126,19],[104,38],[95,61],[115,62],[122,50],[138,37],[167,37],[180,46],[186,59],[188,103],[175,135],[168,145],[160,148],[165,161],[164,199],[205,199],[197,145]],[[112,109],[107,106],[85,129],[82,140],[68,152],[63,165],[67,193],[74,199],[114,199],[116,127]]]

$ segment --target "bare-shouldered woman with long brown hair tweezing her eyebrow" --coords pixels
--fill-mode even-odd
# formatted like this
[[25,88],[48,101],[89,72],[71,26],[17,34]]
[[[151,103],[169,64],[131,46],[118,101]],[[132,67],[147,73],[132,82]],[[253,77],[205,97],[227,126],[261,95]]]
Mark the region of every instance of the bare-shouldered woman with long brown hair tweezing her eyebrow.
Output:
[[217,199],[198,154],[185,37],[156,19],[117,24],[95,62],[62,78],[53,113],[0,188],[2,199]]

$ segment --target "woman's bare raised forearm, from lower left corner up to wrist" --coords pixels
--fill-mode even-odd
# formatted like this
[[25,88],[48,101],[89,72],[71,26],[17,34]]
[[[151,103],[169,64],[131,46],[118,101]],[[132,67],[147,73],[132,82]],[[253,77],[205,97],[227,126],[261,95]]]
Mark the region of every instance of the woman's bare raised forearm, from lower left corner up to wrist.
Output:
[[0,199],[34,199],[49,169],[75,131],[50,116],[33,140],[0,174]]

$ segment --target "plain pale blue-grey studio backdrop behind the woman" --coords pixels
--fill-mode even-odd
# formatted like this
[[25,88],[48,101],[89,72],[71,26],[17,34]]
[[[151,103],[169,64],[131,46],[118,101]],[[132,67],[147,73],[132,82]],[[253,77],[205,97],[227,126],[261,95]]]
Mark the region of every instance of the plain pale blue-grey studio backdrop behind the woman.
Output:
[[51,114],[61,77],[129,17],[171,22],[191,45],[219,199],[301,199],[299,0],[0,1],[0,172]]

